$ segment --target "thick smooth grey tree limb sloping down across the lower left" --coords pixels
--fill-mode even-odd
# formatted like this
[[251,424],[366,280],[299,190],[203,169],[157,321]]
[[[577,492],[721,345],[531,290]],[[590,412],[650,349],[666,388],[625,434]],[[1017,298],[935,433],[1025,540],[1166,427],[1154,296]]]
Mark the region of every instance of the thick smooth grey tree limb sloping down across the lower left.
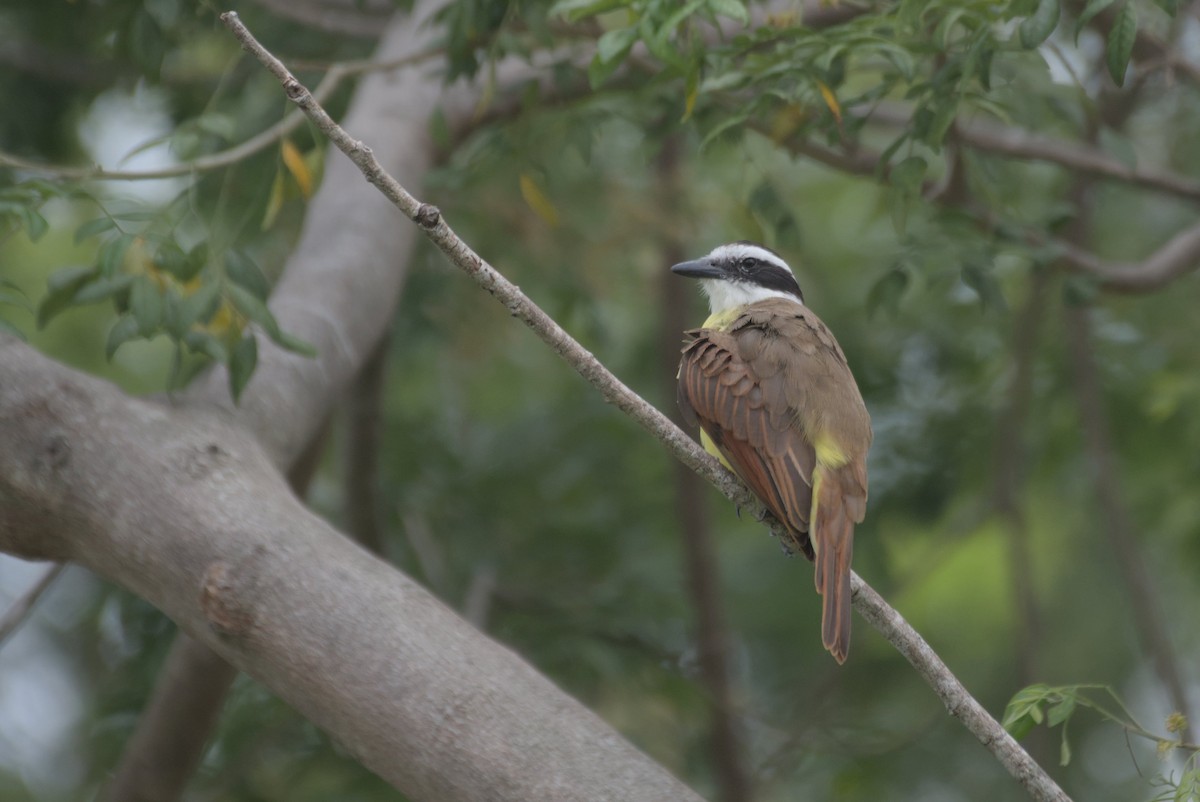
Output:
[[698,798],[310,513],[250,432],[2,335],[0,375],[5,551],[126,586],[414,798]]

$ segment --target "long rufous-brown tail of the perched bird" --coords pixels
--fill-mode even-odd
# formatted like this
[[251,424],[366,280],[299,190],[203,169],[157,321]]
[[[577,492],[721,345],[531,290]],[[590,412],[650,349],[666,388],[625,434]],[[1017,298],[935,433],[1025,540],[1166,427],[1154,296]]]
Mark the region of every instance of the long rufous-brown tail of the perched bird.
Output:
[[[850,561],[854,555],[854,522],[863,520],[864,499],[846,487],[850,468],[814,469],[809,537],[816,551],[816,586],[821,594],[821,641],[838,663],[850,653]],[[817,475],[820,473],[820,475]]]

